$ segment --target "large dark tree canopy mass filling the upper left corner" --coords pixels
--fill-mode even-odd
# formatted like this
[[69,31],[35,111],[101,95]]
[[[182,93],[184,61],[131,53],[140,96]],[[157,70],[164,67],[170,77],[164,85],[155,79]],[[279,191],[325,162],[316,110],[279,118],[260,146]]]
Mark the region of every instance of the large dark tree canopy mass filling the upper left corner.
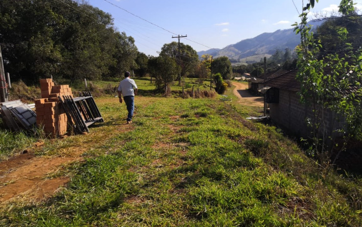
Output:
[[72,0],[0,1],[4,68],[15,80],[115,77],[136,68],[132,37],[113,18]]

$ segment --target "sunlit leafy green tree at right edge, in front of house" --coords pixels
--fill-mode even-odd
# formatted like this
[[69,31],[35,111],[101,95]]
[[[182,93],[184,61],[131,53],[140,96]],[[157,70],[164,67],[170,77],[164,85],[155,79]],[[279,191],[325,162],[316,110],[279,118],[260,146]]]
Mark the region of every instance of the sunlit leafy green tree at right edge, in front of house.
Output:
[[[301,36],[301,44],[297,49],[297,79],[301,83],[301,100],[313,107],[313,116],[307,119],[312,127],[311,151],[319,160],[324,161],[334,149],[339,153],[343,151],[351,138],[361,140],[362,51],[347,49],[343,53],[320,55],[323,45],[320,40],[314,39],[311,27],[307,26],[307,16],[314,4],[315,1],[310,0],[300,15],[301,22],[294,24],[295,31]],[[340,2],[339,12],[344,17],[353,12],[353,9],[352,0]],[[335,39],[341,46],[351,46],[347,42],[348,32],[345,27],[338,29]],[[332,147],[326,146],[330,139],[326,135],[331,132],[326,132],[325,126],[327,122],[333,122],[324,116],[325,110],[335,114],[334,123],[345,121],[345,127],[338,130],[344,138],[342,145],[334,143]]]

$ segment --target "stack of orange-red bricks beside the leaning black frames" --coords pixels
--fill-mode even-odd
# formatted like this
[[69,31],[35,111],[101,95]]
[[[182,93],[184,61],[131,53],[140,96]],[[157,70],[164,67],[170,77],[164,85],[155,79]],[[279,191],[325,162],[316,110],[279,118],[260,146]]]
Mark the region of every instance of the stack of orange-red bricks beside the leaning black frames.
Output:
[[40,79],[41,99],[35,100],[37,125],[46,134],[61,136],[67,132],[67,115],[59,103],[58,96],[73,97],[68,85],[54,86],[52,79]]

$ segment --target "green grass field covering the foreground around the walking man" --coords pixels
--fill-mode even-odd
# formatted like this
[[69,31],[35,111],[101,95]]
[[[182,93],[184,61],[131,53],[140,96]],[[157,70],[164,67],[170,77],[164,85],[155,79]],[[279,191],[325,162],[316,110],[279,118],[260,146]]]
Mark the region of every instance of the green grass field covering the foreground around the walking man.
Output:
[[[246,120],[255,107],[149,96],[149,81],[136,83],[133,124],[118,98],[100,97],[105,122],[90,134],[33,147],[49,159],[75,147],[83,161],[47,176],[68,179],[50,198],[0,204],[0,226],[362,226],[362,181],[321,167],[275,127]],[[8,155],[35,140],[0,136],[12,136]]]

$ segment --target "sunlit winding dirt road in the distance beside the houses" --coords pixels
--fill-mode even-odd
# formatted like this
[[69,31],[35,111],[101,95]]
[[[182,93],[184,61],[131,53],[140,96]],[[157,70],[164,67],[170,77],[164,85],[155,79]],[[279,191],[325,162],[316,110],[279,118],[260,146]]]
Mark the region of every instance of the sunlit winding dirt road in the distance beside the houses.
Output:
[[248,106],[264,106],[263,97],[250,94],[247,84],[232,82],[232,85],[235,86],[234,94],[239,98],[238,103]]

